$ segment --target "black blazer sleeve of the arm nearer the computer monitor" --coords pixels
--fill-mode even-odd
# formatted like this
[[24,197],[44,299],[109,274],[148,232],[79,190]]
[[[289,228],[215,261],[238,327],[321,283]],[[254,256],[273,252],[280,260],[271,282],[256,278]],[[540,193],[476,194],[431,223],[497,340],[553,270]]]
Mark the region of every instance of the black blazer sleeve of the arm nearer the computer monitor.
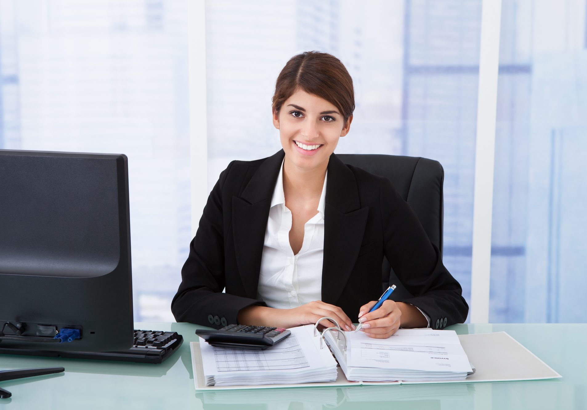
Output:
[[256,299],[222,293],[225,287],[224,221],[227,220],[222,192],[234,163],[232,161],[222,171],[212,188],[190,243],[190,253],[181,269],[181,284],[171,301],[171,311],[178,322],[222,328],[238,323],[238,312],[244,307],[266,306]]

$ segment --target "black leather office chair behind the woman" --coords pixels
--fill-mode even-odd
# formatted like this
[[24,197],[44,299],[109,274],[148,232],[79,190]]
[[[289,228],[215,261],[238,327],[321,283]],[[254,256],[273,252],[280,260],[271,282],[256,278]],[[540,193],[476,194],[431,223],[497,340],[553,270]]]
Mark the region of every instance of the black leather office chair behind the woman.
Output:
[[[392,181],[397,192],[416,212],[430,241],[443,252],[443,182],[444,170],[440,162],[421,157],[381,154],[337,154],[342,162],[362,168],[372,174]],[[383,290],[389,284],[397,289],[390,299],[403,300],[413,297],[397,279],[396,274],[383,256]]]

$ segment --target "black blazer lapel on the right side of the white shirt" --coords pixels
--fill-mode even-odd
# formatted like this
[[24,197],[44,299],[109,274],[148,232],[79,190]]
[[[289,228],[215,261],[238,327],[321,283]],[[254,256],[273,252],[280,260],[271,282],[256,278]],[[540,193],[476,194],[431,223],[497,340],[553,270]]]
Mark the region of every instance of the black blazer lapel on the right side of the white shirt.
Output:
[[355,266],[369,208],[360,208],[355,174],[335,154],[328,162],[322,301],[335,304]]

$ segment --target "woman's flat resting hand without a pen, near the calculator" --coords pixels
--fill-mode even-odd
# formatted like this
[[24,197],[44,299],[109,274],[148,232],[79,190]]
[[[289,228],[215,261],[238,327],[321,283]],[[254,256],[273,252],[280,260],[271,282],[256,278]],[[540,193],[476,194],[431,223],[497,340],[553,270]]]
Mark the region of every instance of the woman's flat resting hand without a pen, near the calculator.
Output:
[[[325,303],[322,300],[311,301],[302,304],[302,306],[293,307],[292,309],[274,309],[272,311],[275,323],[282,327],[296,327],[304,324],[315,324],[321,317],[332,317],[338,322],[343,330],[355,330],[355,326],[345,312],[340,307],[333,304]],[[328,319],[320,322],[324,327],[334,327],[335,324]],[[275,325],[271,325],[275,326]]]

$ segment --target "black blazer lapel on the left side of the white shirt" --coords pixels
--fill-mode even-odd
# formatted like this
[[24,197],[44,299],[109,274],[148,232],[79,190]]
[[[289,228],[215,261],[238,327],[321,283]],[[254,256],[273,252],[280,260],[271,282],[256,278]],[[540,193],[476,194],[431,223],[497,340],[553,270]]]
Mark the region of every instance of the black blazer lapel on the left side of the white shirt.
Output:
[[237,266],[247,296],[257,299],[269,205],[284,150],[259,165],[240,197],[232,196],[232,231]]

